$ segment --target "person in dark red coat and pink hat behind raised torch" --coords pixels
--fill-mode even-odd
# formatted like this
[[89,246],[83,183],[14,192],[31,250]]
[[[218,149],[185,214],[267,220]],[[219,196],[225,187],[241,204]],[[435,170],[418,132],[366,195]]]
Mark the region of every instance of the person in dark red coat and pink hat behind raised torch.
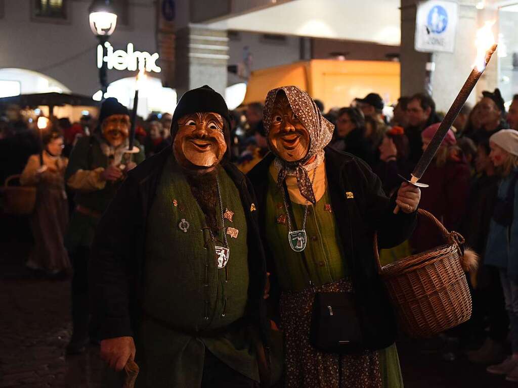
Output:
[[[430,125],[423,131],[423,151],[439,125],[440,123]],[[446,229],[458,231],[467,210],[470,169],[456,146],[451,129],[420,181],[429,185],[422,191],[420,207],[437,217]],[[429,220],[419,220],[410,239],[413,250],[423,252],[443,244],[444,238],[437,227]]]

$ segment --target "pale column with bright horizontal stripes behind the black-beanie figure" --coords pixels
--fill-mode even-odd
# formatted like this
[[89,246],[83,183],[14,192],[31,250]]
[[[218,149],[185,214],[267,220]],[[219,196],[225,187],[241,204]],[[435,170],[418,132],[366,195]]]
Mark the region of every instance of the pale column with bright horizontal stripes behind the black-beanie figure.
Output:
[[189,24],[176,33],[176,77],[178,98],[189,89],[209,85],[225,95],[227,86],[228,37],[226,31]]

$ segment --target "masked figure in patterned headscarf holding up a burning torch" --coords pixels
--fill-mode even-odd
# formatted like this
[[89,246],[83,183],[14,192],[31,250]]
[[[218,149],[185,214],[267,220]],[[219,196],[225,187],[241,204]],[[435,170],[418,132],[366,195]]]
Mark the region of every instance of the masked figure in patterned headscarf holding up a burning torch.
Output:
[[[395,316],[378,275],[373,238],[377,231],[383,248],[408,238],[419,189],[404,183],[394,198],[386,198],[365,162],[326,147],[333,125],[295,86],[268,93],[264,122],[271,153],[249,177],[266,257],[271,258],[270,301],[284,332],[285,386],[402,386],[392,346]],[[402,210],[397,215],[396,204]],[[316,296],[333,293],[343,293],[339,304],[352,300],[338,326],[353,331],[340,332],[343,337],[336,335],[339,327],[326,326],[325,320],[319,326],[311,318]],[[340,317],[330,305],[324,305],[324,315]],[[353,321],[358,327],[348,326]],[[338,338],[334,346],[347,339],[359,348],[349,351],[347,341],[340,351],[326,347],[322,333]]]

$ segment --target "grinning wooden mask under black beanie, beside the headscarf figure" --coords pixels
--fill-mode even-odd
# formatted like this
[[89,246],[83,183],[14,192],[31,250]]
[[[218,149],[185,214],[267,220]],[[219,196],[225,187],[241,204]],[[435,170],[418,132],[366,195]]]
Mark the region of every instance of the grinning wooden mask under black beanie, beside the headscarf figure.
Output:
[[181,117],[173,142],[176,160],[188,169],[214,167],[227,150],[223,131],[223,117],[218,113],[197,112]]

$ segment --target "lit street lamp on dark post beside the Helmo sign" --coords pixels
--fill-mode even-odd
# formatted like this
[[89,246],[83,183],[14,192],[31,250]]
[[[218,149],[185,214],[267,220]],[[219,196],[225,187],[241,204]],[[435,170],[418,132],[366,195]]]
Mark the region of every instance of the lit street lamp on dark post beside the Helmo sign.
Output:
[[[115,31],[117,25],[117,13],[111,0],[93,0],[90,8],[90,28],[99,40],[104,53],[105,43]],[[103,98],[108,89],[107,63],[103,61],[99,68],[99,83],[103,91]]]

